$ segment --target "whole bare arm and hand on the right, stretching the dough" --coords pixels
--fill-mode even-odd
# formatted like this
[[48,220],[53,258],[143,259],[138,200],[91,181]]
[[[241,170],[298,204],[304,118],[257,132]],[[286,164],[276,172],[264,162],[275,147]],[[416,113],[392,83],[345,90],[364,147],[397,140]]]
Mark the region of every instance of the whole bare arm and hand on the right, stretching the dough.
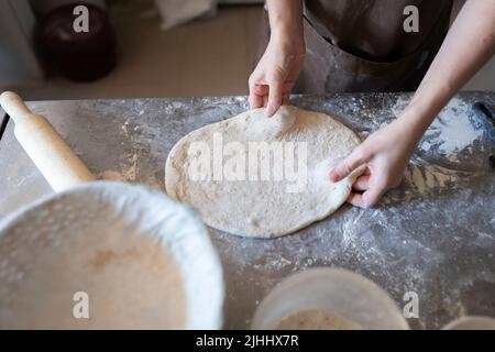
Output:
[[366,173],[354,183],[354,189],[364,193],[351,194],[349,202],[372,207],[387,189],[400,183],[428,125],[494,55],[494,13],[495,1],[466,1],[402,117],[370,135],[330,173],[330,178],[337,182],[358,166],[367,166]]

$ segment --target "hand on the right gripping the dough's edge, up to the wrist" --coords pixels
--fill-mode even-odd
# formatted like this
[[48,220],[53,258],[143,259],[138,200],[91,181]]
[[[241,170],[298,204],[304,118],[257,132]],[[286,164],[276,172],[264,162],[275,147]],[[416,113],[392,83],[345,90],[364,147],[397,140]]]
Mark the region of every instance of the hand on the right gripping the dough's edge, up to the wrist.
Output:
[[405,117],[371,134],[345,160],[330,172],[338,182],[361,165],[366,170],[354,185],[348,202],[360,208],[375,206],[391,188],[397,187],[410,156],[422,135],[419,128],[406,123]]

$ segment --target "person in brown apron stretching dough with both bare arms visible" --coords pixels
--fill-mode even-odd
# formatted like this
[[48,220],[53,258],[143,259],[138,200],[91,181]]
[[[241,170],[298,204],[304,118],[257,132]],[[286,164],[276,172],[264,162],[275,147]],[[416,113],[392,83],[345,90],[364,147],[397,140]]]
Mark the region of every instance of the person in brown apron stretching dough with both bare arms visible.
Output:
[[266,9],[252,109],[272,117],[290,91],[416,90],[400,117],[329,170],[338,182],[366,165],[348,199],[358,207],[399,185],[426,129],[495,53],[495,0],[468,0],[450,30],[452,0],[267,0]]

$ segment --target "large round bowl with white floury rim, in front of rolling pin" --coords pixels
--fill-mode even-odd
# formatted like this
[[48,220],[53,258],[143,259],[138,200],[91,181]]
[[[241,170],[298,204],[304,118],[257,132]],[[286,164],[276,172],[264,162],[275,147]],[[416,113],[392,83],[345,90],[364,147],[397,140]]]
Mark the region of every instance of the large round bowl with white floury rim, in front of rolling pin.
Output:
[[89,183],[0,221],[0,329],[219,329],[222,304],[206,227],[163,193]]

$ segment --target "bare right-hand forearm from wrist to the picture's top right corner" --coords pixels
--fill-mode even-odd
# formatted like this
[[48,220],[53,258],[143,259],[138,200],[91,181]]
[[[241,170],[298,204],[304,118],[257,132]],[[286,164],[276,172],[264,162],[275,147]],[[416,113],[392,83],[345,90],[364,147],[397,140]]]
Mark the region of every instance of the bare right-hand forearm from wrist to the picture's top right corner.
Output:
[[419,138],[494,53],[495,0],[469,0],[403,114]]

